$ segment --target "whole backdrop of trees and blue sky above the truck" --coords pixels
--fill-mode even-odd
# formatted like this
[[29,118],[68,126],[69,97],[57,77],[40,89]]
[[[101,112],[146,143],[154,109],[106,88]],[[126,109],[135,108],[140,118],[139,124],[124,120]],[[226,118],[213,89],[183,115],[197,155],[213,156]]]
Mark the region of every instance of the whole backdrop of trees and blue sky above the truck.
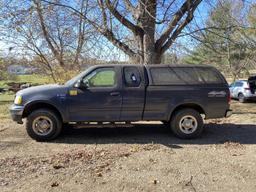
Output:
[[255,69],[253,0],[0,0],[0,76],[11,64],[58,81],[98,63]]

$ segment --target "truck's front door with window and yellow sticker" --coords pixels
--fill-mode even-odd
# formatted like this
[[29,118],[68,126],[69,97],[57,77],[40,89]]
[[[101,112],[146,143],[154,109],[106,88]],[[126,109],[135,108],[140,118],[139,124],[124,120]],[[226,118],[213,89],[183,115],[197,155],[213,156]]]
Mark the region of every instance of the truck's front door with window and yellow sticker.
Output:
[[87,88],[73,88],[68,96],[70,121],[118,121],[122,105],[121,68],[98,67],[81,81]]

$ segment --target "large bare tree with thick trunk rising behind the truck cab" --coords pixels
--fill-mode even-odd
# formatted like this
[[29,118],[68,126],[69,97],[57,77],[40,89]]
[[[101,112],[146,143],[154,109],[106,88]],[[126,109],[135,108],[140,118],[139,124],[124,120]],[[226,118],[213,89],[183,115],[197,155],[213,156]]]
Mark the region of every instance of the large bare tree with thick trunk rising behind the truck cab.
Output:
[[192,21],[201,3],[201,0],[87,0],[90,10],[82,12],[61,0],[42,1],[82,15],[133,62],[145,64],[161,62],[162,55]]

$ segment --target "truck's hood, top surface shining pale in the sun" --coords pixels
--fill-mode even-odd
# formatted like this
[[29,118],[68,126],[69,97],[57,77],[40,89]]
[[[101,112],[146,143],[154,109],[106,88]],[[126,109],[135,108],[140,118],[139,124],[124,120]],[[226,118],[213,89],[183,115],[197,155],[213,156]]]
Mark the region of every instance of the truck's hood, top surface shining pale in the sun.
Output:
[[18,91],[17,95],[28,95],[28,94],[34,94],[34,93],[43,93],[43,92],[57,92],[60,89],[63,89],[65,86],[58,85],[58,84],[50,84],[50,85],[39,85],[34,87],[29,87],[26,89],[22,89]]

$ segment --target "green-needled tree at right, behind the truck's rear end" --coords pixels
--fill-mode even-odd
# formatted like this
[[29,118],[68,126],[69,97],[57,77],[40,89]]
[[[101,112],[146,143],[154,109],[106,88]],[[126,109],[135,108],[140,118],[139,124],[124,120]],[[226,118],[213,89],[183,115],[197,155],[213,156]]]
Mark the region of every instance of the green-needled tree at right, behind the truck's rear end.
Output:
[[[194,24],[191,30],[195,46],[189,56],[188,63],[212,64],[233,80],[241,75],[248,75],[255,66],[255,15],[253,4],[243,1],[219,0],[213,6],[204,30]],[[248,18],[251,18],[250,21]],[[256,17],[255,17],[256,18]],[[196,30],[197,28],[197,30]]]

